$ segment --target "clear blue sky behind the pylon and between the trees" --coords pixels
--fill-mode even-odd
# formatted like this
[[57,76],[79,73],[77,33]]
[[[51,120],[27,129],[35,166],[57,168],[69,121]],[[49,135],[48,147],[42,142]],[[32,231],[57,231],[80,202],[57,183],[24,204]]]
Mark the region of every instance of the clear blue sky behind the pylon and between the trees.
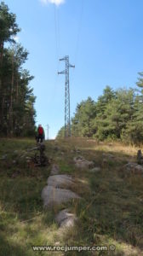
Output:
[[[20,43],[35,76],[37,124],[54,138],[64,125],[65,77],[60,57],[70,56],[71,114],[77,103],[113,89],[134,87],[143,71],[142,0],[5,0],[17,16]],[[49,3],[51,2],[51,3]],[[58,4],[59,3],[59,4]]]

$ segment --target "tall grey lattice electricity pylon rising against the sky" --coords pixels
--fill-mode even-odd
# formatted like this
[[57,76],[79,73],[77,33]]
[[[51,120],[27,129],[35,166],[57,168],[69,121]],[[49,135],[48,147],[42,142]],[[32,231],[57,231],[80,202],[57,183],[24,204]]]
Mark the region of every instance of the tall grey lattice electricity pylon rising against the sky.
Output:
[[75,67],[69,63],[69,56],[66,55],[60,61],[66,62],[66,69],[58,74],[66,74],[65,86],[65,137],[71,137],[71,117],[70,117],[70,81],[69,81],[69,68]]

